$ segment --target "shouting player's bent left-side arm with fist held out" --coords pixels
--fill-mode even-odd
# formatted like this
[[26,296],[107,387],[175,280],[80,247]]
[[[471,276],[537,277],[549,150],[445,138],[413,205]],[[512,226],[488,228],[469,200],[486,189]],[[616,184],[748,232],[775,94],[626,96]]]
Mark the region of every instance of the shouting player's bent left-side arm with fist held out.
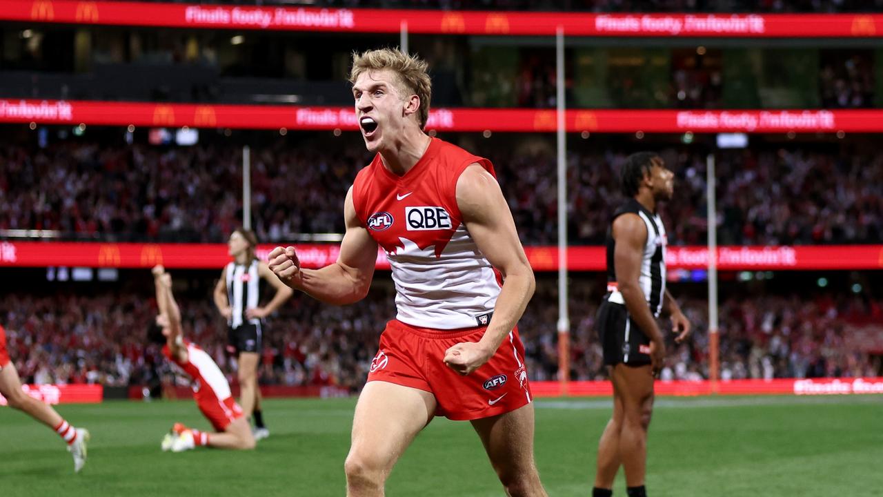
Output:
[[343,218],[346,232],[334,264],[318,270],[304,269],[294,247],[276,247],[270,252],[269,269],[285,285],[322,302],[343,305],[365,298],[377,264],[377,242],[358,221],[352,188],[346,194]]

